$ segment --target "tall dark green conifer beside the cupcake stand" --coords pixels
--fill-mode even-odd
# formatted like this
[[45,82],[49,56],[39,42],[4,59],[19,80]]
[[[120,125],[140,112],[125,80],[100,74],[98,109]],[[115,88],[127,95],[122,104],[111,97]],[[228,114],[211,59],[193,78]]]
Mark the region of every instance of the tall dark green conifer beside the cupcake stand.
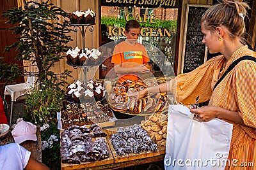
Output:
[[[67,43],[72,40],[68,33],[73,30],[68,28],[69,21],[65,20],[68,14],[49,1],[36,3],[24,0],[24,9],[20,7],[3,11],[2,17],[7,18],[7,23],[15,25],[10,30],[19,35],[19,41],[6,46],[4,52],[16,48],[19,53],[15,59],[29,60],[32,66],[36,66],[38,72],[34,74],[38,76],[38,81],[49,80],[49,76],[54,74],[51,68],[65,57],[69,48]],[[60,17],[64,18],[62,24],[55,21]],[[6,79],[6,83],[15,80],[17,74],[29,74],[26,70],[19,71],[13,67],[17,66],[0,64],[0,69],[4,70],[0,73],[0,78],[10,77]],[[59,76],[69,74],[70,71],[64,71]]]

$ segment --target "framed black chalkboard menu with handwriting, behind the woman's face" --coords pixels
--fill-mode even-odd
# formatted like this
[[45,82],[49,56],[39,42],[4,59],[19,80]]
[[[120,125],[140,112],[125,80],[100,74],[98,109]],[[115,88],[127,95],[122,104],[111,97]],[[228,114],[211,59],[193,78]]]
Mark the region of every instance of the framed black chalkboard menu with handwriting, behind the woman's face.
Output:
[[202,44],[204,35],[201,32],[201,17],[208,8],[209,5],[187,6],[182,73],[192,71],[206,60],[207,52],[205,53],[205,45]]

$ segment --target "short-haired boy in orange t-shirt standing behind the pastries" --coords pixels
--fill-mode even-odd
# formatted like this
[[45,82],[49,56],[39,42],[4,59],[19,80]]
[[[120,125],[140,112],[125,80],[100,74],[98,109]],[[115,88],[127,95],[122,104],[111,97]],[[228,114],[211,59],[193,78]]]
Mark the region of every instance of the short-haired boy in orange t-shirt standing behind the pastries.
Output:
[[146,49],[137,42],[140,23],[129,20],[125,24],[125,41],[115,46],[111,62],[114,64],[119,83],[124,80],[139,80],[138,74],[150,73]]

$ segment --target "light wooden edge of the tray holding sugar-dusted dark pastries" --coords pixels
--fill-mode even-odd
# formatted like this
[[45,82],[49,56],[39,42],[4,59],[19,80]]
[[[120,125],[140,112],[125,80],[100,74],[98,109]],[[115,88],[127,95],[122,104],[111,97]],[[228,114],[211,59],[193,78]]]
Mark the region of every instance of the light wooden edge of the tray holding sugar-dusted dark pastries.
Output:
[[108,145],[109,145],[110,150],[115,159],[115,163],[127,162],[129,160],[145,159],[145,158],[156,157],[158,155],[165,154],[165,146],[158,146],[159,150],[157,152],[147,152],[147,153],[133,154],[133,155],[129,155],[127,157],[125,157],[125,156],[120,157],[120,156],[116,155],[115,149],[113,148],[113,145],[112,145],[111,139],[110,139],[111,134],[114,134],[117,131],[117,127],[110,128],[110,129],[103,129],[103,131],[106,134],[108,134],[108,136],[106,136],[106,138],[108,140]]

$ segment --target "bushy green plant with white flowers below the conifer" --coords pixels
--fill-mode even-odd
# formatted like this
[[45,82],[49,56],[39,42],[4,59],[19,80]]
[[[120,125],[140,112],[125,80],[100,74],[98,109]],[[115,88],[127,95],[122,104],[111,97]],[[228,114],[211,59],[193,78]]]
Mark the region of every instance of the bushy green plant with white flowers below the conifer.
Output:
[[40,125],[42,141],[42,162],[51,169],[60,168],[60,131],[56,113],[64,98],[63,90],[56,89],[51,83],[38,84],[26,95],[25,120]]

